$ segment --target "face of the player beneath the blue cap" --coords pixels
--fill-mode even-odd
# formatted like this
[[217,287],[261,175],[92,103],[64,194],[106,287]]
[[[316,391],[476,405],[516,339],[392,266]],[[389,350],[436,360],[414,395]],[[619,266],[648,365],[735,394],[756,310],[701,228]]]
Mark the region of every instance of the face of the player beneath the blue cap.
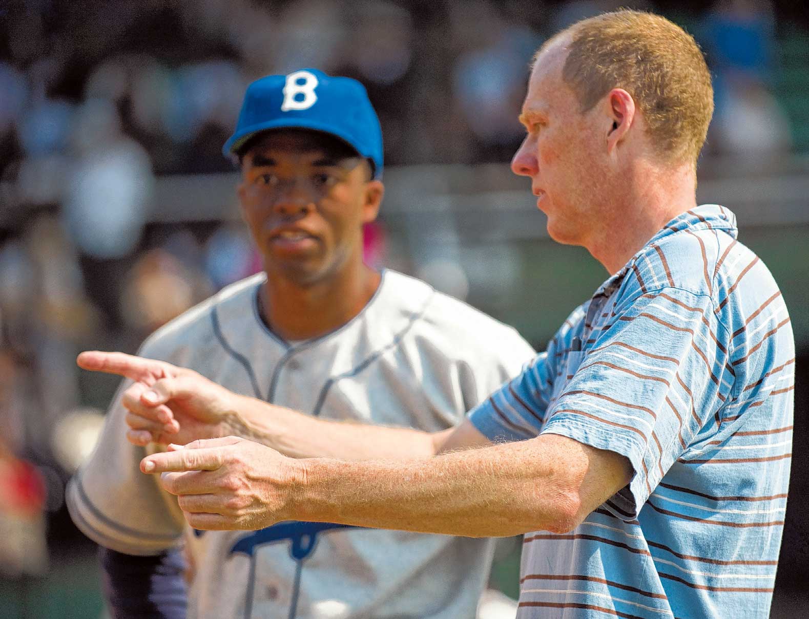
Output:
[[383,185],[336,138],[305,130],[260,137],[244,155],[239,200],[270,276],[311,285],[362,261],[362,224]]

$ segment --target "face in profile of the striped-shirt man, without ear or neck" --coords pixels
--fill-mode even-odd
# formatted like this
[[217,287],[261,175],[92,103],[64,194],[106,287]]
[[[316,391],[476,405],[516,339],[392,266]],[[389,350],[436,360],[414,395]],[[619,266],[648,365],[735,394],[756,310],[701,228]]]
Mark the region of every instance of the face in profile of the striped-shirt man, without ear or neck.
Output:
[[564,48],[552,45],[537,59],[520,121],[527,135],[511,161],[515,174],[531,179],[536,205],[548,216],[557,242],[587,246],[598,229],[604,193],[604,154],[593,114],[562,80]]

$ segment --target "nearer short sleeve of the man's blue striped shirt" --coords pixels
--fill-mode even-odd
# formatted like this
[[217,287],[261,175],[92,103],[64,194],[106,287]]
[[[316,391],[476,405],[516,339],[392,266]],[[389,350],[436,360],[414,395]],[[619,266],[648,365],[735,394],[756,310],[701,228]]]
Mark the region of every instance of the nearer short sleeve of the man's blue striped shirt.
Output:
[[633,478],[605,507],[632,520],[695,437],[717,427],[733,389],[730,337],[709,296],[665,288],[616,309],[587,344],[578,368],[568,361],[543,433],[628,458]]

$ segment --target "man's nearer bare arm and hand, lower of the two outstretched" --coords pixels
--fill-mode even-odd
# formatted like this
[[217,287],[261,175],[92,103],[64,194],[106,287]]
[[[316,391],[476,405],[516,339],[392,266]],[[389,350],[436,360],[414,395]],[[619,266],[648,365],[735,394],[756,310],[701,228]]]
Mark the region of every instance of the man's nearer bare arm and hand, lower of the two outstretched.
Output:
[[553,435],[410,461],[296,461],[229,437],[146,457],[142,470],[166,473],[194,528],[294,519],[472,537],[569,531],[631,474],[624,457]]

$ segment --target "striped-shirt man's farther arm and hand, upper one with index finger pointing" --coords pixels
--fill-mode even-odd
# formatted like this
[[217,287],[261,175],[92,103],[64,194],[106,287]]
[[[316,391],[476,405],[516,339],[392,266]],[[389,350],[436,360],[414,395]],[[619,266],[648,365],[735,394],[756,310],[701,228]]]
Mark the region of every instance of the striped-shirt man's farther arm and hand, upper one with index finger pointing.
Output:
[[138,445],[235,435],[296,458],[396,460],[489,444],[468,422],[430,433],[316,419],[234,394],[193,370],[121,352],[83,352],[78,364],[135,381],[122,402],[129,411],[129,441]]

